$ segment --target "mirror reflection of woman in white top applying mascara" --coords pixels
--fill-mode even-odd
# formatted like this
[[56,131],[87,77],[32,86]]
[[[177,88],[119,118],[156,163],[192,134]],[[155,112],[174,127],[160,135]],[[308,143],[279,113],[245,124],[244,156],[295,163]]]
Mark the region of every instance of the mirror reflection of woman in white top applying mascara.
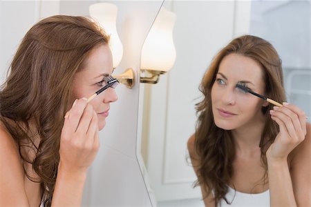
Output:
[[[202,79],[204,99],[188,148],[205,206],[310,206],[311,126],[285,101],[283,72],[267,41],[234,39]],[[231,205],[230,205],[231,204]]]

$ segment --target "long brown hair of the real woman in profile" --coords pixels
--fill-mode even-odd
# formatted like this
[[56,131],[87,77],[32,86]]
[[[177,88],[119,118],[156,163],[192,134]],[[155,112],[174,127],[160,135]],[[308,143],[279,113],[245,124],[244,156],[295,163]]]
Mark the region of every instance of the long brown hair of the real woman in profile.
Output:
[[[57,15],[32,26],[21,41],[0,90],[0,121],[19,146],[23,162],[41,183],[44,204],[50,206],[64,115],[73,103],[73,78],[94,48],[109,44],[109,36],[87,17]],[[35,128],[35,134],[30,129]],[[34,137],[39,136],[39,145]],[[30,159],[22,148],[35,152]]]

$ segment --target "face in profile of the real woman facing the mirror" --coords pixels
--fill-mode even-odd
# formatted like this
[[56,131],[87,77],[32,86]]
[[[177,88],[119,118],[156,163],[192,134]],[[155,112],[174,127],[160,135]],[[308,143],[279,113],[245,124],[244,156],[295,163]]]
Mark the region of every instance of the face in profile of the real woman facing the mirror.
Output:
[[[91,95],[106,84],[103,78],[111,75],[112,72],[113,59],[109,46],[102,45],[93,49],[82,63],[81,70],[74,77],[74,99],[91,97]],[[113,88],[107,88],[89,102],[97,113],[99,130],[102,130],[106,125],[110,103],[116,100],[117,95],[115,94],[115,90]]]

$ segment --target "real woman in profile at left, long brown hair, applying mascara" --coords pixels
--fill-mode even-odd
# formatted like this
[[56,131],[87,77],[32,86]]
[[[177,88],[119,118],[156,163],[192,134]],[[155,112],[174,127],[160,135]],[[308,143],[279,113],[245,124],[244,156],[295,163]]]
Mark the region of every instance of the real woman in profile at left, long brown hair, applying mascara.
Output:
[[109,36],[89,19],[48,17],[27,32],[0,90],[0,206],[81,205],[117,99],[113,88],[82,97],[111,72]]

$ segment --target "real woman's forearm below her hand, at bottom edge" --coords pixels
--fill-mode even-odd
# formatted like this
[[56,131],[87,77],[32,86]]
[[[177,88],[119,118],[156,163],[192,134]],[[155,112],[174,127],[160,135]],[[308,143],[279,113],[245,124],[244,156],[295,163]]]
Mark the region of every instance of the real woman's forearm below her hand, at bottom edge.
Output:
[[81,206],[86,170],[70,172],[59,164],[52,206]]

